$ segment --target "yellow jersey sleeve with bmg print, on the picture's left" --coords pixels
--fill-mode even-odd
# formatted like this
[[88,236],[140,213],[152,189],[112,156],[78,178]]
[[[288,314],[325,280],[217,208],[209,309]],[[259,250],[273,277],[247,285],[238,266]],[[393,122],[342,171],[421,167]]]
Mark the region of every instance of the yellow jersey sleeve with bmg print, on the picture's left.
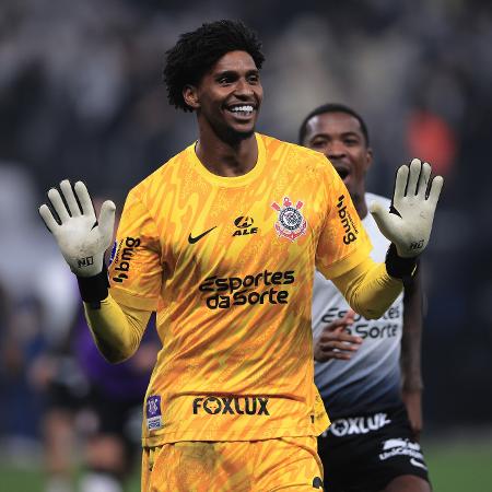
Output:
[[157,227],[133,189],[125,203],[112,253],[112,296],[128,307],[155,311],[162,276]]

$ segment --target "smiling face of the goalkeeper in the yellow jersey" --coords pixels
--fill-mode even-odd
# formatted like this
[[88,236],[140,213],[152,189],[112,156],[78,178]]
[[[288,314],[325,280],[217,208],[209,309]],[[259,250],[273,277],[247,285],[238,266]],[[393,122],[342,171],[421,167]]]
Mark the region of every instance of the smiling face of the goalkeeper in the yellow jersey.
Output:
[[263,97],[259,71],[246,51],[230,51],[183,92],[197,112],[200,128],[211,128],[223,141],[250,137]]

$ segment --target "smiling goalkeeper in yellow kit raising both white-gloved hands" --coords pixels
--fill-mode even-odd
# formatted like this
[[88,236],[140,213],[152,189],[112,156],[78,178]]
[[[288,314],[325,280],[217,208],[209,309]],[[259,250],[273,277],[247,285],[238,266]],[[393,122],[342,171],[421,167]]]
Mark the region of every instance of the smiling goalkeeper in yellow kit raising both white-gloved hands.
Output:
[[[378,317],[427,244],[442,178],[414,160],[395,213],[374,210],[386,261],[317,152],[255,132],[260,43],[237,21],[203,24],[167,51],[169,103],[198,140],[128,195],[106,270],[115,206],[96,221],[83,183],[61,181],[40,214],[77,274],[95,343],[119,362],[157,312],[162,349],[144,401],[142,491],[323,489],[313,382],[315,267]],[[115,409],[117,411],[117,409]]]

